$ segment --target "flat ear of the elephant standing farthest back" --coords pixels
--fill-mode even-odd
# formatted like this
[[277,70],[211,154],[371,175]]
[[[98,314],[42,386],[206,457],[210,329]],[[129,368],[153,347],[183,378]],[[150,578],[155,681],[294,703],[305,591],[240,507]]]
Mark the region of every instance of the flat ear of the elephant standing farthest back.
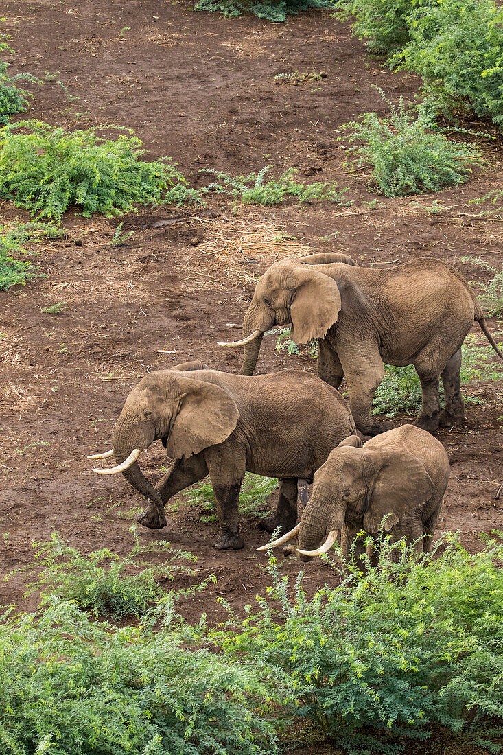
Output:
[[341,311],[341,294],[334,279],[309,268],[295,270],[296,285],[290,305],[292,341],[307,344],[322,338]]

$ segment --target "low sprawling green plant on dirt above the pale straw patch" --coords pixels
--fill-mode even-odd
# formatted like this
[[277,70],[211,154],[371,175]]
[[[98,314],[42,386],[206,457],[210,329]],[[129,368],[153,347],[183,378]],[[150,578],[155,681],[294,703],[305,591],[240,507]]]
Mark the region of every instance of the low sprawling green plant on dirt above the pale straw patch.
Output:
[[[337,184],[329,181],[323,183],[317,181],[307,186],[304,183],[297,183],[293,180],[293,176],[298,172],[295,168],[287,168],[278,179],[271,179],[264,183],[265,174],[272,167],[272,165],[266,165],[258,173],[236,177],[204,168],[199,172],[213,174],[217,181],[205,186],[202,192],[214,191],[219,194],[228,194],[239,199],[243,205],[277,205],[285,202],[289,196],[295,197],[299,202],[310,203],[324,199],[329,202],[343,203],[343,195],[347,189],[338,191]],[[350,202],[344,204],[350,204]]]

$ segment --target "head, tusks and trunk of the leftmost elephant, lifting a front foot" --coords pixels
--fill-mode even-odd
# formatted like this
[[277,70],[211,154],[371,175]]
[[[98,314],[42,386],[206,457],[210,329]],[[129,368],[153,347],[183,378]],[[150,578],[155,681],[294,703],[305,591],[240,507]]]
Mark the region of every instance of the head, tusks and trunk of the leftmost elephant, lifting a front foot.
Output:
[[[185,365],[180,365],[184,367]],[[189,369],[193,369],[189,365]],[[221,387],[206,383],[177,368],[151,372],[131,391],[122,408],[113,438],[113,450],[89,458],[114,456],[116,467],[94,471],[122,472],[128,482],[156,504],[159,521],[164,507],[156,488],[137,464],[143,449],[162,439],[169,457],[199,454],[203,448],[223,442],[236,427],[239,411],[234,399]]]

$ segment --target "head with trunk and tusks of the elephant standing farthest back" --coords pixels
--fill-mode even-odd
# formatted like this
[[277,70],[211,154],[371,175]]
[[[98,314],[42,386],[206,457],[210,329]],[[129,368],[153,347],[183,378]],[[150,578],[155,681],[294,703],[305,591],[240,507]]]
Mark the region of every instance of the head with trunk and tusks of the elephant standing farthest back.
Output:
[[262,337],[275,325],[292,323],[292,341],[305,344],[312,338],[324,337],[337,320],[341,294],[335,280],[322,272],[326,264],[304,260],[273,263],[255,287],[242,323],[244,337],[241,341],[220,344],[245,347],[241,374],[253,374]]

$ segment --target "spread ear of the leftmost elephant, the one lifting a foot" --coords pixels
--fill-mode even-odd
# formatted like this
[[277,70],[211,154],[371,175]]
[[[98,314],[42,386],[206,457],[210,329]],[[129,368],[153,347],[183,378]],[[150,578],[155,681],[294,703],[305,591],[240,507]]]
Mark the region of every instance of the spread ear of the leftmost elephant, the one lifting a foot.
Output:
[[232,396],[218,385],[190,377],[177,377],[176,386],[180,389],[178,412],[166,440],[168,456],[181,459],[224,442],[239,418]]

